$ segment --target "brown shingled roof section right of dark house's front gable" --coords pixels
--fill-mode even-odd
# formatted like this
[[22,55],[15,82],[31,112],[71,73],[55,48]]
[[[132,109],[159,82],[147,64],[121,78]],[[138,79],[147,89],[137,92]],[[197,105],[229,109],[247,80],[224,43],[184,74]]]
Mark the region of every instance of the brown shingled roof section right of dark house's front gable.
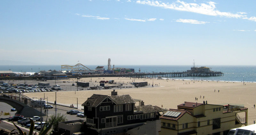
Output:
[[109,96],[116,104],[129,104],[129,103],[136,103],[130,95],[115,95]]

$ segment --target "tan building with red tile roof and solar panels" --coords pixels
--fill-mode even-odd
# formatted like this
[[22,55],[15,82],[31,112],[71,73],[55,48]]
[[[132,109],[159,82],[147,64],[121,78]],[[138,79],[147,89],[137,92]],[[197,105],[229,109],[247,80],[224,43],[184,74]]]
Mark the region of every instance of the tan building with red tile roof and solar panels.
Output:
[[243,106],[185,102],[160,117],[159,135],[227,135],[247,125],[247,111]]

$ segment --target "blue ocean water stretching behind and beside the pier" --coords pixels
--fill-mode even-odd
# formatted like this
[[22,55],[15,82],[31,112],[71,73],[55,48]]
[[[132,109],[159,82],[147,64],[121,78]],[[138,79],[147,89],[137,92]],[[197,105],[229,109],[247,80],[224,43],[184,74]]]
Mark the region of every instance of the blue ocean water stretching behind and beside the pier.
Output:
[[[104,66],[105,69],[108,68],[107,65],[85,65],[87,68],[95,69],[97,66]],[[201,65],[211,68],[212,71],[221,71],[224,73],[223,76],[210,76],[210,77],[195,77],[195,80],[209,80],[209,81],[229,81],[229,82],[256,82],[256,66],[216,66],[216,65]],[[198,66],[198,67],[201,67]],[[187,71],[191,68],[190,65],[115,65],[117,68],[134,68],[135,72],[182,72]],[[113,66],[112,66],[113,68]],[[61,70],[60,65],[0,65],[0,71],[11,71],[20,73],[35,73],[42,70]],[[194,77],[172,77],[173,79],[185,79],[193,80]]]

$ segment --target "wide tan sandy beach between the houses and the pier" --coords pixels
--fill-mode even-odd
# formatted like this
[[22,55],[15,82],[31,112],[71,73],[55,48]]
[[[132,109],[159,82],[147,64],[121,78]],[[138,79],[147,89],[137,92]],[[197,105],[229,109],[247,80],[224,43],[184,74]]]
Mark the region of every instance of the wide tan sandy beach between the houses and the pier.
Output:
[[[132,82],[133,78],[121,78],[122,82]],[[91,78],[81,78],[79,81],[89,81]],[[100,80],[115,80],[120,81],[118,77],[105,77],[105,79],[92,78],[92,82],[99,82]],[[61,80],[70,81],[70,80]],[[75,80],[73,80],[75,81]],[[147,81],[148,84],[153,83],[153,79],[150,78],[136,78],[135,82]],[[48,82],[48,81],[47,81]],[[154,85],[158,84],[160,87],[150,88],[133,88],[133,89],[116,89],[118,95],[129,94],[133,99],[141,99],[145,102],[145,105],[152,104],[163,108],[177,108],[177,105],[188,102],[203,103],[207,100],[208,104],[230,104],[230,105],[243,105],[248,108],[248,125],[253,124],[256,120],[256,109],[253,105],[256,104],[255,100],[255,88],[256,83],[242,82],[216,82],[216,81],[194,81],[192,80],[166,80],[166,79],[154,79]],[[58,83],[61,85],[61,83]],[[214,92],[215,90],[215,92]],[[86,91],[58,91],[57,103],[62,104],[74,104],[76,107],[76,101],[78,104],[84,103],[87,98],[92,94],[104,94],[111,95],[113,90],[86,90]],[[219,92],[218,92],[219,91]],[[48,97],[48,101],[55,101],[55,92],[37,92],[37,93],[24,93],[30,98],[42,98]],[[200,98],[201,96],[201,98]],[[204,99],[203,99],[204,96]],[[195,98],[198,100],[195,101]]]

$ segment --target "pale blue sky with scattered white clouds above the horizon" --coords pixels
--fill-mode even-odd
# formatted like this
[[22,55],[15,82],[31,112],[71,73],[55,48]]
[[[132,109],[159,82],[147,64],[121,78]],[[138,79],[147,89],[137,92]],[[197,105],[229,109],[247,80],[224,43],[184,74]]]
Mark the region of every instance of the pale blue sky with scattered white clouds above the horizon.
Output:
[[256,65],[256,1],[0,1],[0,65]]

